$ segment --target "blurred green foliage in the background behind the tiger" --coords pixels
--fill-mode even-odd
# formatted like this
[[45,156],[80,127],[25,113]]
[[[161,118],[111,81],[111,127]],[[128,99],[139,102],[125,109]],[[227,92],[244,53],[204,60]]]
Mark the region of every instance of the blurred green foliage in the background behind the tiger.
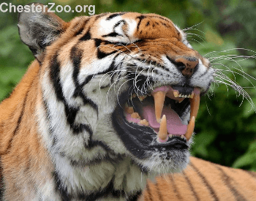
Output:
[[[34,0],[33,0],[34,1]],[[11,0],[28,4],[33,1]],[[54,0],[56,5],[94,4],[100,12],[154,12],[173,20],[200,54],[210,58],[213,67],[244,87],[256,103],[256,2],[241,0]],[[84,13],[56,13],[71,20]],[[86,13],[87,14],[87,13]],[[88,14],[87,14],[88,15]],[[0,12],[0,100],[7,97],[34,59],[20,42],[18,13]],[[244,49],[234,49],[244,48]],[[251,56],[251,58],[237,57]],[[224,83],[213,83],[201,99],[195,132],[194,156],[232,167],[256,170],[256,115],[243,96]],[[220,80],[220,79],[217,79]],[[1,113],[1,111],[0,111]]]

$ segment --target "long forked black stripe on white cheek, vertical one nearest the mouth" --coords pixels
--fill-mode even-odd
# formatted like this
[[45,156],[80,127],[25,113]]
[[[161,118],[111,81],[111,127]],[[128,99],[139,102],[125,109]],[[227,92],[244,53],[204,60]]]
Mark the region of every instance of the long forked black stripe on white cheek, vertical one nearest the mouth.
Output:
[[78,75],[79,75],[79,71],[80,71],[80,63],[83,57],[83,51],[82,50],[78,50],[78,48],[76,48],[75,46],[71,49],[70,52],[70,59],[72,61],[74,70],[73,70],[73,80],[75,83],[75,92],[74,92],[74,97],[80,97],[81,99],[83,99],[83,104],[84,105],[90,105],[92,108],[94,108],[94,110],[96,110],[97,112],[97,116],[98,116],[98,106],[89,98],[87,98],[85,96],[85,94],[83,94],[83,86],[86,84],[86,82],[88,83],[89,80],[91,80],[91,75],[89,75],[89,78],[83,82],[82,85],[79,84],[78,82]]

